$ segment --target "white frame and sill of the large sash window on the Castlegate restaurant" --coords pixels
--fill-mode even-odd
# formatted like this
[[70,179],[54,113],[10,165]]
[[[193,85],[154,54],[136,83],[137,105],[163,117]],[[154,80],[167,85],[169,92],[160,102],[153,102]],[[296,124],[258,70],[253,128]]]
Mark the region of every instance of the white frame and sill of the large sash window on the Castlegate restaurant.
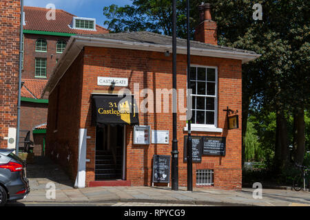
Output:
[[[223,132],[223,129],[218,128],[218,67],[207,66],[207,65],[191,65],[191,67],[202,67],[202,68],[212,68],[215,69],[215,95],[201,95],[202,97],[212,97],[214,98],[214,124],[191,124],[192,131],[207,131],[207,132]],[[195,92],[196,93],[196,92]],[[192,96],[197,96],[192,94]],[[194,117],[194,115],[193,115]],[[187,124],[184,131],[188,131]]]

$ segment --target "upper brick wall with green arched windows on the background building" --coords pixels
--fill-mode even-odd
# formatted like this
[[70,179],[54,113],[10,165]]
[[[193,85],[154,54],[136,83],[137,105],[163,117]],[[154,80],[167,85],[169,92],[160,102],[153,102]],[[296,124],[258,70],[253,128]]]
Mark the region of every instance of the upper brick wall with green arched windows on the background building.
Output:
[[[48,43],[48,52],[36,52],[36,42],[38,39],[45,39]],[[52,70],[56,66],[56,59],[61,57],[61,54],[56,53],[57,41],[68,41],[66,36],[50,36],[41,34],[24,34],[24,55],[23,55],[23,78],[35,78],[35,58],[47,59],[47,78],[50,78]],[[37,78],[40,79],[40,78]]]

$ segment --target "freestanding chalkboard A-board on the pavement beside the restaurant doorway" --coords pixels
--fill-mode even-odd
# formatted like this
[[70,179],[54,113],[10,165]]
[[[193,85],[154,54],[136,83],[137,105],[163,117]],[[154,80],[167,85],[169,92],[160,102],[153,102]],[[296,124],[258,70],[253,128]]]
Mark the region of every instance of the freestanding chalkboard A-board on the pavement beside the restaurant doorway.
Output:
[[154,155],[153,182],[169,183],[170,181],[170,156]]

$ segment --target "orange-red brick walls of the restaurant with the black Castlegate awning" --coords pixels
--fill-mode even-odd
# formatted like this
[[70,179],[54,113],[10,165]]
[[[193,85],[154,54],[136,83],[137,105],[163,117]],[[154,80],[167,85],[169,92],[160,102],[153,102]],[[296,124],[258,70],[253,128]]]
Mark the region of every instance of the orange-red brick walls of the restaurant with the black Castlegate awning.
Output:
[[[74,68],[80,61],[74,61]],[[218,67],[218,127],[223,128],[223,133],[210,132],[192,132],[193,135],[213,135],[225,136],[226,155],[225,156],[203,156],[200,164],[194,164],[194,184],[196,184],[196,169],[214,168],[214,186],[225,189],[241,188],[241,61],[225,59],[192,56],[193,65],[208,65]],[[72,67],[73,67],[72,66]],[[186,89],[187,84],[187,63],[186,56],[178,55],[177,63],[177,87]],[[121,50],[99,47],[85,47],[84,65],[83,65],[83,89],[81,96],[60,96],[61,102],[72,105],[73,100],[82,97],[81,114],[75,114],[72,118],[70,111],[65,111],[66,107],[59,109],[61,113],[59,120],[66,121],[66,126],[72,126],[72,123],[79,121],[79,127],[87,129],[87,135],[91,139],[87,140],[87,159],[90,162],[86,164],[86,181],[94,181],[94,158],[95,158],[95,127],[91,126],[91,93],[94,90],[107,90],[107,87],[97,86],[97,76],[113,76],[129,79],[129,89],[133,90],[134,83],[140,83],[140,89],[148,87],[150,89],[171,89],[172,88],[172,56],[166,57],[159,52],[145,52],[137,50]],[[73,71],[73,72],[72,72]],[[81,71],[79,72],[81,74]],[[61,80],[61,88],[65,85],[70,86],[72,77],[78,76],[77,69],[69,69]],[[66,83],[66,84],[65,84]],[[120,87],[116,87],[116,90]],[[78,90],[79,87],[74,88]],[[50,96],[49,112],[55,111],[55,91]],[[67,91],[72,91],[68,88]],[[143,97],[140,98],[142,101]],[[156,98],[154,98],[156,99]],[[158,101],[157,101],[158,102]],[[157,103],[158,104],[158,103]],[[154,109],[156,102],[154,102]],[[240,129],[227,130],[226,109],[239,111]],[[74,107],[79,108],[78,104]],[[69,120],[70,118],[70,120]],[[80,119],[80,120],[79,120]],[[171,155],[172,151],[172,113],[139,113],[140,124],[149,124],[153,130],[169,130],[170,144],[149,144],[148,146],[132,144],[132,126],[126,127],[126,178],[132,182],[132,185],[150,185],[152,184],[152,158],[154,154]],[[49,126],[52,126],[49,114]],[[179,153],[179,186],[186,186],[187,182],[187,164],[183,163],[183,140],[186,131],[185,121],[178,120],[178,151]],[[68,129],[63,127],[63,129]],[[54,135],[48,131],[48,135]],[[61,133],[63,133],[61,131]],[[64,136],[68,136],[66,133]],[[49,137],[49,136],[48,136]],[[74,137],[78,137],[76,134]],[[58,140],[60,140],[60,137]],[[64,138],[64,137],[62,137]],[[53,140],[48,140],[49,143]],[[57,141],[58,141],[57,140]],[[77,138],[76,138],[77,142]],[[73,142],[72,142],[73,143]],[[77,143],[72,148],[76,148]]]

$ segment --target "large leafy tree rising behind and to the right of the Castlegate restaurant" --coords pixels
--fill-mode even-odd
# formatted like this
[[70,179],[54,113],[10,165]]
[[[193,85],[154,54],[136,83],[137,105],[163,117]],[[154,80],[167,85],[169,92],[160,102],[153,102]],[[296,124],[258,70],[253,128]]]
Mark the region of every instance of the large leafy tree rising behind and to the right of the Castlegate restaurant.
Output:
[[[210,0],[212,18],[218,24],[218,44],[253,50],[262,56],[242,66],[242,140],[250,109],[276,113],[273,139],[275,162],[289,162],[287,118],[296,115],[296,159],[305,149],[304,109],[310,104],[309,5],[310,1]],[[262,20],[254,21],[254,3],[262,5]],[[197,26],[200,1],[191,1],[192,32]],[[132,5],[105,7],[105,24],[114,32],[147,30],[171,35],[172,1],[132,0]],[[186,35],[185,0],[177,1],[178,36]],[[242,144],[245,153],[245,142]],[[243,155],[243,159],[245,156]]]

